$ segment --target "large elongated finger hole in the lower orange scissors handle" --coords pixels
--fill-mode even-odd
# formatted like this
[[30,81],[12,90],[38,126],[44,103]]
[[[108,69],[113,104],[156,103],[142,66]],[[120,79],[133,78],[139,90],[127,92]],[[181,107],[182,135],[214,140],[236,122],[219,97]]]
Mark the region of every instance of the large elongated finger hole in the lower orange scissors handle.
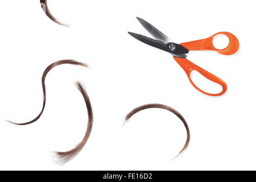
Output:
[[207,78],[205,78],[201,73],[197,71],[191,72],[191,80],[192,82],[201,90],[207,93],[211,94],[218,94],[222,92],[222,86],[219,84],[216,84],[216,82],[213,82]]

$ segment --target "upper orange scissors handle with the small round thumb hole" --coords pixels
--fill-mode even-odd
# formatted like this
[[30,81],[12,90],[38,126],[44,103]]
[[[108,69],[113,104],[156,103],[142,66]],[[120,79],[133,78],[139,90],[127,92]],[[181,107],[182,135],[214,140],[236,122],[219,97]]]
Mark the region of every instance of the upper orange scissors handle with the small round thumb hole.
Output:
[[[213,39],[214,36],[224,34],[228,36],[229,38],[229,45],[228,47],[224,49],[217,49],[213,46]],[[185,48],[189,49],[189,51],[203,51],[203,50],[209,50],[209,51],[217,51],[218,53],[221,53],[222,55],[233,55],[236,53],[240,47],[240,43],[236,36],[229,32],[218,32],[217,34],[214,34],[210,36],[207,39],[201,39],[201,40],[195,40],[192,42],[186,42],[181,43],[181,46],[184,46]]]

